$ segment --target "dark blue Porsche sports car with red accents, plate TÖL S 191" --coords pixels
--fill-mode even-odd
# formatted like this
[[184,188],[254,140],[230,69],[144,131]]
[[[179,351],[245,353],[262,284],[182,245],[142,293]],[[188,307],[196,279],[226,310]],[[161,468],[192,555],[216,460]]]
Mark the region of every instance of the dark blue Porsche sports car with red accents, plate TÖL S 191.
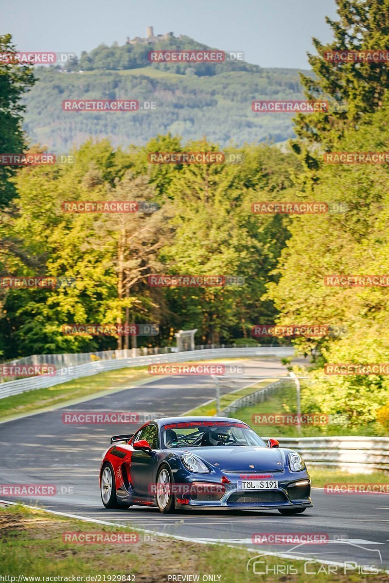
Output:
[[312,506],[304,460],[229,417],[169,417],[111,437],[100,468],[106,508],[278,510]]

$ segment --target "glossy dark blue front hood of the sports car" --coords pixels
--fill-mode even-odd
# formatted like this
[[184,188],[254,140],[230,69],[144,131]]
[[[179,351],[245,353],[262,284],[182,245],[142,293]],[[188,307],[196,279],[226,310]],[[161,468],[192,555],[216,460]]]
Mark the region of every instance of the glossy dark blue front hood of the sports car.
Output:
[[228,447],[220,445],[216,447],[187,448],[183,449],[183,453],[195,455],[208,462],[212,468],[225,471],[279,471],[282,470],[285,459],[281,449],[265,447]]

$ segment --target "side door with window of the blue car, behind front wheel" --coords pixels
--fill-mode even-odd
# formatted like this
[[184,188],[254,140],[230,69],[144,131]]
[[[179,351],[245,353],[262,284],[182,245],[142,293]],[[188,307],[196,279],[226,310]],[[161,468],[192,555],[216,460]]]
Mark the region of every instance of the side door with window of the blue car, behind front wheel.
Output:
[[152,484],[155,482],[155,476],[153,476],[155,456],[159,449],[158,431],[155,424],[149,423],[138,431],[132,443],[141,440],[146,440],[152,451],[145,452],[142,449],[134,449],[131,454],[131,482],[134,486],[134,494],[152,497]]

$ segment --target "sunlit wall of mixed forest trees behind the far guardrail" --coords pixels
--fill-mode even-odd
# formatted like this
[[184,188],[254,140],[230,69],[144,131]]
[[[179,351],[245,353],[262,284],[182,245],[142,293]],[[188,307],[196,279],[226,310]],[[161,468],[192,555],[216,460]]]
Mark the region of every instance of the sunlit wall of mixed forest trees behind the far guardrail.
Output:
[[[178,329],[198,328],[199,343],[251,339],[258,321],[271,322],[264,301],[287,237],[285,220],[255,216],[258,196],[277,196],[293,185],[299,161],[270,146],[229,147],[240,164],[149,164],[153,151],[219,151],[211,142],[181,145],[171,135],[145,147],[114,150],[106,140],[72,150],[73,164],[20,170],[19,198],[7,228],[17,249],[9,275],[67,276],[75,286],[57,290],[10,289],[0,331],[5,358],[31,353],[83,352],[128,347],[121,338],[68,336],[71,323],[145,323],[174,342]],[[149,201],[153,213],[64,213],[64,201]],[[286,222],[288,222],[286,220]],[[237,276],[223,287],[160,288],[152,273]],[[133,343],[132,346],[135,346]]]

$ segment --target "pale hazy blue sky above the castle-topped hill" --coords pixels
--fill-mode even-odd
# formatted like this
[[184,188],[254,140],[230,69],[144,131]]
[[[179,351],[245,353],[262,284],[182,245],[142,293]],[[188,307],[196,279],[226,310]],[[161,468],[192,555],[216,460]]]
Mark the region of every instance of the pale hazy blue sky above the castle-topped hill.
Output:
[[325,16],[335,0],[18,0],[1,9],[0,33],[11,33],[20,51],[80,55],[127,36],[173,31],[211,47],[243,51],[266,67],[307,68],[311,37],[331,39]]

